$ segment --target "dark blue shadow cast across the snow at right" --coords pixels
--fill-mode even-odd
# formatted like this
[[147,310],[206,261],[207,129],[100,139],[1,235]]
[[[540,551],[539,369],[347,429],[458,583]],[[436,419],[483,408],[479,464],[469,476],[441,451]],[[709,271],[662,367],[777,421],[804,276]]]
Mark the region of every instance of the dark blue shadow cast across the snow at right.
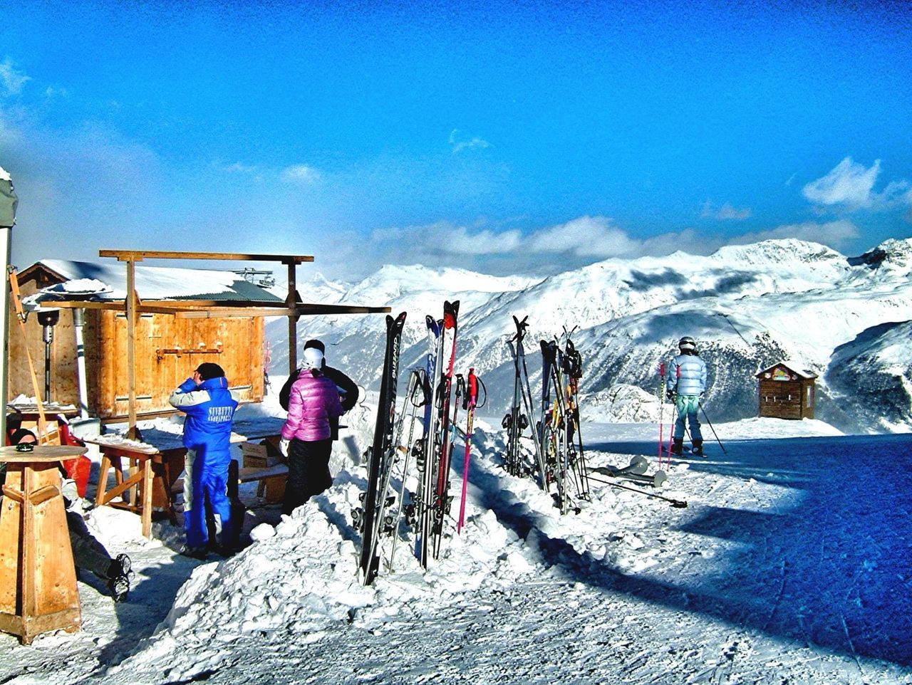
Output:
[[[709,443],[708,443],[709,445]],[[528,506],[504,500],[497,476],[472,472],[485,505],[574,580],[696,611],[860,657],[912,665],[912,436],[840,436],[726,443],[690,470],[782,486],[751,510],[699,504],[675,527],[734,545],[666,582],[606,567],[563,539],[546,537]],[[654,444],[588,449],[651,455]],[[490,480],[489,480],[490,479]],[[636,484],[634,484],[636,485]],[[712,494],[706,499],[711,502]]]

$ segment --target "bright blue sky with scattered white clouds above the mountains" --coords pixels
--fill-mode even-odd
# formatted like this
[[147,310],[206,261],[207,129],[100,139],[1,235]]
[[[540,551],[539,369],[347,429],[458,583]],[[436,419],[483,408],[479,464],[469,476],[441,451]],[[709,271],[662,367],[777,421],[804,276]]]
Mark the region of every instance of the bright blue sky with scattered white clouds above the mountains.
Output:
[[912,235],[905,4],[250,5],[5,5],[14,263],[287,252],[351,279]]

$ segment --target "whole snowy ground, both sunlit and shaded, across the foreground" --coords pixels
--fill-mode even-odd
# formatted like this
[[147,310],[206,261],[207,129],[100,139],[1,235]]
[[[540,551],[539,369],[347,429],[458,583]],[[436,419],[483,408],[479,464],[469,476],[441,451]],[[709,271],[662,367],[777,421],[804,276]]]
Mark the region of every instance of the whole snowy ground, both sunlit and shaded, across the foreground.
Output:
[[[253,539],[233,558],[180,557],[167,522],[146,540],[137,516],[92,510],[133,557],[129,601],[84,575],[82,629],[0,637],[0,683],[912,683],[908,435],[719,424],[726,452],[707,430],[707,458],[642,488],[687,508],[594,481],[560,516],[503,472],[500,419],[485,417],[461,536],[427,572],[400,539],[395,571],[363,588],[350,510],[373,413],[352,414],[326,494],[279,520],[243,493]],[[657,433],[584,424],[589,465],[654,455]]]

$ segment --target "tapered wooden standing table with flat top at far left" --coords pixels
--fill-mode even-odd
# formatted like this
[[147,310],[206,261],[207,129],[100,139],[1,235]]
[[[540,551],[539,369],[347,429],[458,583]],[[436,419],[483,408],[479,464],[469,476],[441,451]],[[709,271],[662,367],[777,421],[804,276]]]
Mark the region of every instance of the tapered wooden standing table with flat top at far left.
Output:
[[82,614],[67,510],[60,494],[63,459],[85,447],[0,447],[6,462],[0,508],[0,630],[31,644],[49,630],[79,629]]

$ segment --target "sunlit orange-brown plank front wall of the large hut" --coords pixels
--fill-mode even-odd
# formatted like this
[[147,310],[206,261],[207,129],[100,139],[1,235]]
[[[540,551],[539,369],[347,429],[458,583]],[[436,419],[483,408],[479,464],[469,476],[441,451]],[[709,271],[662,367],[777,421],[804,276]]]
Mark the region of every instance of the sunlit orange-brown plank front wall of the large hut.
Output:
[[[127,319],[119,312],[90,312],[87,338],[89,405],[101,418],[124,416],[129,406]],[[243,402],[263,400],[264,320],[254,317],[178,319],[140,315],[136,330],[136,410],[171,410],[171,391],[203,362],[219,364]],[[180,350],[180,353],[175,352]]]

